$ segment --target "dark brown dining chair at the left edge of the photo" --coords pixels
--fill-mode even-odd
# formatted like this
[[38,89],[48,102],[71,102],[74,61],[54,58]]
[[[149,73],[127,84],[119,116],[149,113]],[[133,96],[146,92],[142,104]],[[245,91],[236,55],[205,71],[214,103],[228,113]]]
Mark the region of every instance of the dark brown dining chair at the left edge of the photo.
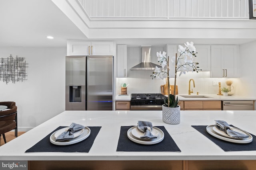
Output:
[[[2,122],[2,126],[1,128],[4,128],[3,126],[6,125],[6,129],[9,129],[9,127],[13,127],[13,123],[15,123],[15,127],[13,128],[15,130],[15,137],[18,137],[18,119],[17,119],[17,106],[15,102],[0,102],[0,105],[4,105],[7,106],[6,110],[0,111],[0,122]],[[5,123],[3,123],[3,121],[6,121]],[[12,121],[12,122],[9,122]],[[6,131],[2,130],[2,131]],[[11,130],[13,130],[11,129]],[[9,130],[10,131],[10,130]],[[1,132],[1,131],[0,131]],[[6,131],[8,132],[8,131]],[[5,132],[5,133],[6,133]],[[0,133],[0,135],[4,133]]]

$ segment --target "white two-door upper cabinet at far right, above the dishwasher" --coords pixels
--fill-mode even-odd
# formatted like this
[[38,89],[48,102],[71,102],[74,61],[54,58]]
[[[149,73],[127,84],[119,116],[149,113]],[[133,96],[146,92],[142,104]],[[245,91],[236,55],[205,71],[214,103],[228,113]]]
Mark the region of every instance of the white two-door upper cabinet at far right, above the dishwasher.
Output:
[[239,48],[237,45],[211,46],[211,77],[239,77]]

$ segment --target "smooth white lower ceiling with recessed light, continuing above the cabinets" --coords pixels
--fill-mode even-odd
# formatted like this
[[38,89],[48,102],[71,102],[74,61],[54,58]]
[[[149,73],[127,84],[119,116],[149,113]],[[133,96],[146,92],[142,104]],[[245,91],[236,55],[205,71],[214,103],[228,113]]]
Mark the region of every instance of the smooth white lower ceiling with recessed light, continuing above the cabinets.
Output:
[[[47,39],[51,35],[54,39]],[[51,0],[0,0],[0,47],[66,47],[68,39],[87,37]],[[93,39],[96,40],[96,39]],[[194,41],[196,44],[243,44],[251,39],[104,39],[116,44],[166,45]]]

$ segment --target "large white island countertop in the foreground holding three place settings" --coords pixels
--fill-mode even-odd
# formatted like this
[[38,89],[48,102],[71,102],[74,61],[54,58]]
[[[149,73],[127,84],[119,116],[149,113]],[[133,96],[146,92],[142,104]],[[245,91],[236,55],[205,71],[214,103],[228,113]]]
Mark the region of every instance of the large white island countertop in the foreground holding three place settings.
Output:
[[[256,160],[256,151],[224,152],[191,125],[212,125],[222,119],[256,135],[256,111],[181,111],[181,123],[162,122],[162,111],[64,111],[0,147],[0,160]],[[181,152],[116,152],[120,127],[138,120],[163,125]],[[25,153],[59,126],[72,122],[102,126],[88,153]],[[255,140],[255,139],[254,139]]]

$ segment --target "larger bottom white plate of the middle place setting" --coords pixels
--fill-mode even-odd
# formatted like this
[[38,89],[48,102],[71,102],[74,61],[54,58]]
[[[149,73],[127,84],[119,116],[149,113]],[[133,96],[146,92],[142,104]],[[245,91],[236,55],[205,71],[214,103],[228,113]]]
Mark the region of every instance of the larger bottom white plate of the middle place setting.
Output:
[[134,137],[133,135],[132,135],[132,130],[134,129],[134,128],[137,128],[137,126],[134,126],[134,127],[131,127],[130,129],[128,129],[128,131],[127,131],[127,137],[131,140],[131,141],[133,141],[133,142],[135,142],[135,143],[140,143],[140,144],[143,144],[143,145],[153,145],[153,144],[156,144],[156,143],[160,143],[163,139],[164,139],[164,132],[161,130],[161,129],[159,129],[159,128],[157,128],[157,127],[153,127],[153,129],[155,129],[156,131],[158,131],[158,136],[157,136],[157,138],[154,138],[154,139],[152,139],[152,140],[144,140],[144,139],[138,139],[138,138],[136,138],[136,137]]

